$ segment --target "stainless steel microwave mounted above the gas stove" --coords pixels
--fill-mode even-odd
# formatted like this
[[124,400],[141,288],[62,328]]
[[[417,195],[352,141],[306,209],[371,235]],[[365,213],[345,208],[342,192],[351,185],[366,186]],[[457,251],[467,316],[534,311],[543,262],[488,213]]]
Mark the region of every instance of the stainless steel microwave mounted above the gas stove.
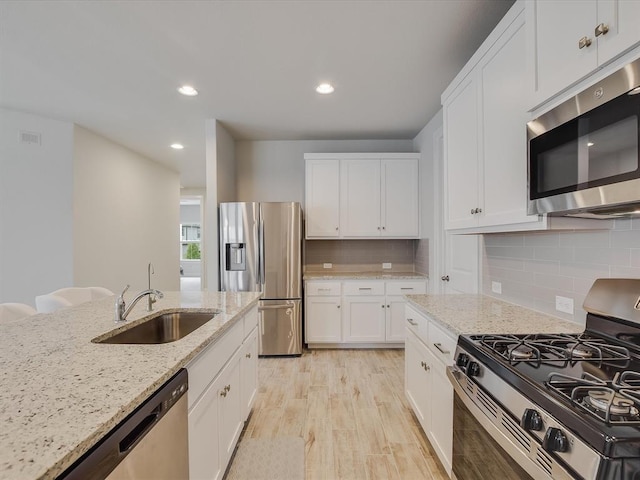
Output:
[[528,212],[640,215],[640,59],[527,124]]

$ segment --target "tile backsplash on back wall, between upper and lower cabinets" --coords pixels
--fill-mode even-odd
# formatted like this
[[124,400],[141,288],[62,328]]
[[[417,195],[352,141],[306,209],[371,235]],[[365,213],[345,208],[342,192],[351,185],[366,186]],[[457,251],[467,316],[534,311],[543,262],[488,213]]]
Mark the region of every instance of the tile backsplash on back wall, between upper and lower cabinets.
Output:
[[[389,272],[413,272],[415,240],[307,240],[305,270],[372,272],[391,263]],[[333,264],[326,270],[324,263]]]

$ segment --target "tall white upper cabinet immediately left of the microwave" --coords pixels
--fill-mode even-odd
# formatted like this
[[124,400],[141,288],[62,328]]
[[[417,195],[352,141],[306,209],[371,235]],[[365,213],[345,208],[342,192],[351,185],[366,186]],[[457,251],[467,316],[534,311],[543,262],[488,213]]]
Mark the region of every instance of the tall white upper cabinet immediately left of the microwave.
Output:
[[527,215],[524,18],[516,3],[443,94],[448,230],[540,223]]

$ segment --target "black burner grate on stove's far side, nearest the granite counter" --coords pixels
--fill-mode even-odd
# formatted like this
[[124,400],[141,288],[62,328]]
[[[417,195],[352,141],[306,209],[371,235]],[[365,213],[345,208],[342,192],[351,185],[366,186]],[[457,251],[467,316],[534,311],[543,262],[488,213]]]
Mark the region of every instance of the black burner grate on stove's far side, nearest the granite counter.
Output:
[[[620,362],[630,359],[625,347],[586,334],[478,335],[473,337],[512,365],[527,362],[556,367],[580,361]],[[640,380],[639,380],[640,384]]]

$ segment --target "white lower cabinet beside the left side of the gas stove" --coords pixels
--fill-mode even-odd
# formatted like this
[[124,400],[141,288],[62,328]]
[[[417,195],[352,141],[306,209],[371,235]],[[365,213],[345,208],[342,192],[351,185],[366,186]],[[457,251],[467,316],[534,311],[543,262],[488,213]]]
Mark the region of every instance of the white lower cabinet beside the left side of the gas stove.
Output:
[[407,306],[405,395],[444,469],[451,475],[453,387],[446,367],[453,363],[456,339]]

